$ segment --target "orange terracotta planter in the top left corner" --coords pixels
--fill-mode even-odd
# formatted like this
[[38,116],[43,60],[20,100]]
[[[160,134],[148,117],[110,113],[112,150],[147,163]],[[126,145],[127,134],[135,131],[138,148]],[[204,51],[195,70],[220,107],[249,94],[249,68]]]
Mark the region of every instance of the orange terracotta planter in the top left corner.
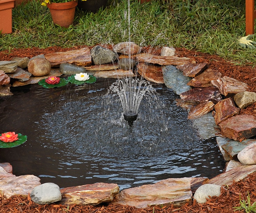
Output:
[[0,32],[2,34],[12,32],[12,8],[15,0],[0,0]]

